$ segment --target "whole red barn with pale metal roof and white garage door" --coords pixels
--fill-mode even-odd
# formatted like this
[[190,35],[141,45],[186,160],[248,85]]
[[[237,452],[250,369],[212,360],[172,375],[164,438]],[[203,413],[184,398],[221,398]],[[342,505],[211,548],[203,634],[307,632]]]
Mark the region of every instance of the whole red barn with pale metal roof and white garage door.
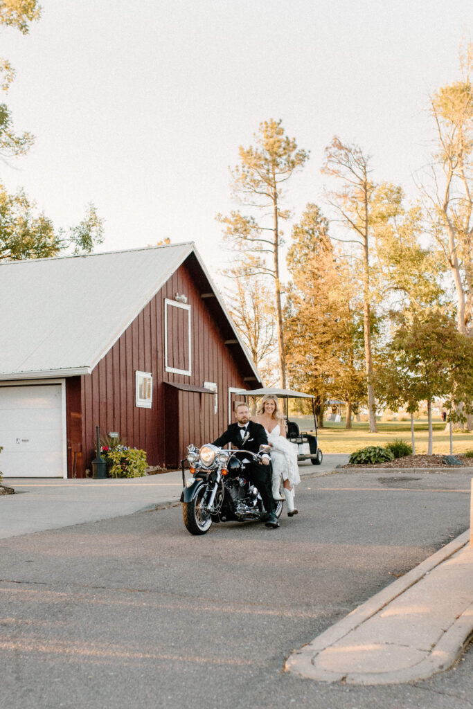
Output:
[[95,430],[174,467],[260,376],[194,244],[0,264],[0,469],[83,477]]

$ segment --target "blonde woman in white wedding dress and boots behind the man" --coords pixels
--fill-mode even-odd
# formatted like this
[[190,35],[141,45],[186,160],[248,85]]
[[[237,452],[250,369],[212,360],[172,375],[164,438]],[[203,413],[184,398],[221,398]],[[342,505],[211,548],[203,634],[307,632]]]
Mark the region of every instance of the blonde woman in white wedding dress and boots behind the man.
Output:
[[272,496],[275,500],[284,499],[279,489],[280,481],[283,479],[287,514],[292,517],[297,514],[294,506],[294,486],[299,485],[301,478],[297,467],[297,449],[286,439],[286,426],[277,405],[277,398],[272,394],[265,394],[258,404],[253,420],[265,427],[268,443],[271,446]]

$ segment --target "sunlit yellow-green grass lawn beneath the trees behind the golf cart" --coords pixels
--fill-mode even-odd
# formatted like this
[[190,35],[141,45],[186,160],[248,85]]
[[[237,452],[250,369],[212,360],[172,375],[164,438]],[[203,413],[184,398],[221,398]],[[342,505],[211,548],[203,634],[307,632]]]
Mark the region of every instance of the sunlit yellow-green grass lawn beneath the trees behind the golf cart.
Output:
[[[297,421],[301,430],[313,426],[313,419],[307,416],[291,416]],[[318,430],[318,444],[323,453],[352,453],[367,445],[386,445],[390,441],[401,438],[411,443],[411,423],[409,421],[377,422],[378,432],[369,433],[367,423],[353,422],[353,428],[346,429],[345,421],[334,423],[324,422],[324,428]],[[433,423],[433,453],[450,453],[450,434],[445,432],[445,423]],[[427,420],[414,422],[414,435],[416,440],[416,453],[427,453],[428,423]],[[453,452],[464,453],[473,450],[473,431],[453,433]]]

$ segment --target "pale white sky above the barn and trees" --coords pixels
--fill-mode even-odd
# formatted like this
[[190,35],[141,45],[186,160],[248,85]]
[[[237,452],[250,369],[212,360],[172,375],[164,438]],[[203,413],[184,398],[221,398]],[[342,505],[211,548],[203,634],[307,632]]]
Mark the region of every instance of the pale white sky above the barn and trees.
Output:
[[36,136],[27,157],[2,165],[7,189],[23,186],[56,227],[94,201],[100,250],[194,240],[213,275],[226,260],[215,216],[235,208],[228,167],[266,119],[282,118],[311,151],[288,184],[295,220],[308,201],[323,208],[335,134],[413,197],[429,91],[459,77],[473,19],[471,0],[42,4],[26,37],[0,30],[16,69],[6,102],[16,130]]

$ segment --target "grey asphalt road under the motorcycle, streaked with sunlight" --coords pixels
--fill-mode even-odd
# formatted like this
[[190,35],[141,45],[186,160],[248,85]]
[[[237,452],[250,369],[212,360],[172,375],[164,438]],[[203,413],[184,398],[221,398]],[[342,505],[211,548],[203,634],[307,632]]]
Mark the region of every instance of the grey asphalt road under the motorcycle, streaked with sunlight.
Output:
[[469,485],[340,473],[303,481],[279,530],[191,537],[174,507],[1,540],[0,705],[471,709],[471,653],[407,686],[282,672],[292,649],[464,531]]

